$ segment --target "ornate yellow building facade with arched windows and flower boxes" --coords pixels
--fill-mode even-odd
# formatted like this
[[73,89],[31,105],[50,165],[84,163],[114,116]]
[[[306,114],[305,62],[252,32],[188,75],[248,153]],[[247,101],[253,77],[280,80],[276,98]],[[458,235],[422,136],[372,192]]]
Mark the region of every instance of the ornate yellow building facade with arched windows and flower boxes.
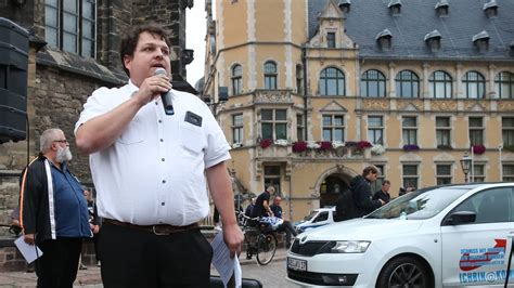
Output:
[[277,186],[293,220],[333,205],[369,165],[394,197],[463,182],[471,146],[471,181],[514,180],[512,1],[219,0],[213,11],[202,96],[243,186]]

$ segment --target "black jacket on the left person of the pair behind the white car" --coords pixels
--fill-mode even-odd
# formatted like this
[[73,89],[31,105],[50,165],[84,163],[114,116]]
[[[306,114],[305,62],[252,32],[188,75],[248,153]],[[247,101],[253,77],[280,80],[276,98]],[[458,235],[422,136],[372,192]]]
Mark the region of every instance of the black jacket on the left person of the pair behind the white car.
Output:
[[382,204],[378,200],[372,200],[370,182],[362,175],[357,175],[350,181],[351,197],[354,198],[354,217],[360,218],[371,213]]

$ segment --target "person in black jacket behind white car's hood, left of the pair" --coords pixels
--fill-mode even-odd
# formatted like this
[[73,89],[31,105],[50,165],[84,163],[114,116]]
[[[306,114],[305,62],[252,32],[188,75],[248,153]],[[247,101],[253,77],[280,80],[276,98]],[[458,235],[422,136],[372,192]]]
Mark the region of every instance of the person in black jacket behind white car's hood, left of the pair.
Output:
[[350,191],[354,198],[354,215],[361,218],[371,213],[376,208],[384,205],[384,200],[372,200],[370,184],[376,180],[378,170],[374,166],[369,166],[362,171],[362,175],[357,175],[350,181]]

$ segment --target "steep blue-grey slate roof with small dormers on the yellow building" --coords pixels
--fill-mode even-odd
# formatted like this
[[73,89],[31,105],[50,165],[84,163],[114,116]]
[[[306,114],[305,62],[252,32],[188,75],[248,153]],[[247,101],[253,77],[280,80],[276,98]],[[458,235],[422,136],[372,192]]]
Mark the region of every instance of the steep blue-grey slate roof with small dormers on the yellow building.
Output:
[[[318,15],[329,0],[308,0],[309,39],[318,32]],[[514,0],[497,0],[498,16],[489,18],[484,5],[489,0],[450,0],[449,13],[440,17],[436,4],[440,0],[402,0],[401,14],[393,16],[390,0],[352,0],[345,14],[347,35],[360,47],[361,57],[376,58],[450,58],[512,60],[509,51],[514,42]],[[336,2],[337,3],[337,2]],[[393,45],[382,51],[375,36],[388,29]],[[431,52],[424,37],[434,30],[441,35],[441,48]],[[473,36],[487,31],[489,50],[479,53]]]

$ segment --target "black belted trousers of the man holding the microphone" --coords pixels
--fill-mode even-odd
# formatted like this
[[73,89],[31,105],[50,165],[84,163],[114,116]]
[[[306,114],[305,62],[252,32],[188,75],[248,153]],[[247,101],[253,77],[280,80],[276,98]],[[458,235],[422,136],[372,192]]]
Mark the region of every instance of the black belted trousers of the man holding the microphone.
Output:
[[165,236],[104,223],[99,237],[104,287],[209,287],[213,249],[200,230]]

